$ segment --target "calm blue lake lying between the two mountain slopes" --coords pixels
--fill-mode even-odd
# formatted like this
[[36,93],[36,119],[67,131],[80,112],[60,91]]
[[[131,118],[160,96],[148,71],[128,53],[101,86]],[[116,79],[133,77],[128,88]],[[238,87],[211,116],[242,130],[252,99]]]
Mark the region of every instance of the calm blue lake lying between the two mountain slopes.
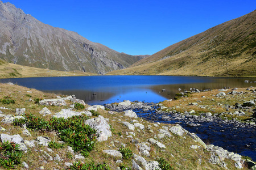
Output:
[[[249,83],[245,83],[249,80]],[[178,88],[250,87],[256,86],[256,78],[212,78],[198,76],[71,76],[46,78],[0,79],[40,91],[62,95],[76,95],[89,105],[107,104],[123,100],[159,101],[174,99]],[[162,92],[165,89],[166,91]]]

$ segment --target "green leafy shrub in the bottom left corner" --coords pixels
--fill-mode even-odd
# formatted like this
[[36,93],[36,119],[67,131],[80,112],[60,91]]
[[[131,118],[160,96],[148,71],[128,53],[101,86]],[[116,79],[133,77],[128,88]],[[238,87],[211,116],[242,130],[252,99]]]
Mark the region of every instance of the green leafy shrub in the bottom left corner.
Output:
[[19,145],[14,142],[3,142],[0,144],[0,166],[3,168],[15,168],[20,164],[23,152]]

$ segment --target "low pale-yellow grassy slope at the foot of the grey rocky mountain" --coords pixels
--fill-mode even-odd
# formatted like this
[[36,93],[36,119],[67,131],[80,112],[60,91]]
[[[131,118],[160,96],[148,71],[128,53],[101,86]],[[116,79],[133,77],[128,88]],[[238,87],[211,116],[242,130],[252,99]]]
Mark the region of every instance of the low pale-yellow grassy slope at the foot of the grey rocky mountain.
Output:
[[0,78],[22,78],[39,76],[85,76],[96,75],[94,73],[84,73],[82,71],[56,71],[39,69],[35,67],[21,66],[8,63],[0,59]]

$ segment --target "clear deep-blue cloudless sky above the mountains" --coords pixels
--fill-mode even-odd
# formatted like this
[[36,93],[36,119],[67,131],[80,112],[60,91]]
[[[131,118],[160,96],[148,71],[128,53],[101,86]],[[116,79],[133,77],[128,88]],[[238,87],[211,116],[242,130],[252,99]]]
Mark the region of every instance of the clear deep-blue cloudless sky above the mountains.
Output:
[[118,52],[154,54],[256,9],[255,0],[3,0]]

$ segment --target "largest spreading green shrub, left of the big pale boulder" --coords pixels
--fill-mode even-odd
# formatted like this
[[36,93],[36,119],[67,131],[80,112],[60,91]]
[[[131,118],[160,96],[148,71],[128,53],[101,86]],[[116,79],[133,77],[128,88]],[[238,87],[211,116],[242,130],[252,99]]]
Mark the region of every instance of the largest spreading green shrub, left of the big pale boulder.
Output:
[[[24,119],[15,119],[14,125],[23,126],[34,130],[56,131],[61,141],[71,146],[75,152],[80,152],[83,156],[93,150],[96,142],[96,130],[85,125],[84,121],[88,116],[72,116],[67,119],[52,117],[49,121],[43,118],[25,114]],[[53,144],[54,145],[54,144]]]

